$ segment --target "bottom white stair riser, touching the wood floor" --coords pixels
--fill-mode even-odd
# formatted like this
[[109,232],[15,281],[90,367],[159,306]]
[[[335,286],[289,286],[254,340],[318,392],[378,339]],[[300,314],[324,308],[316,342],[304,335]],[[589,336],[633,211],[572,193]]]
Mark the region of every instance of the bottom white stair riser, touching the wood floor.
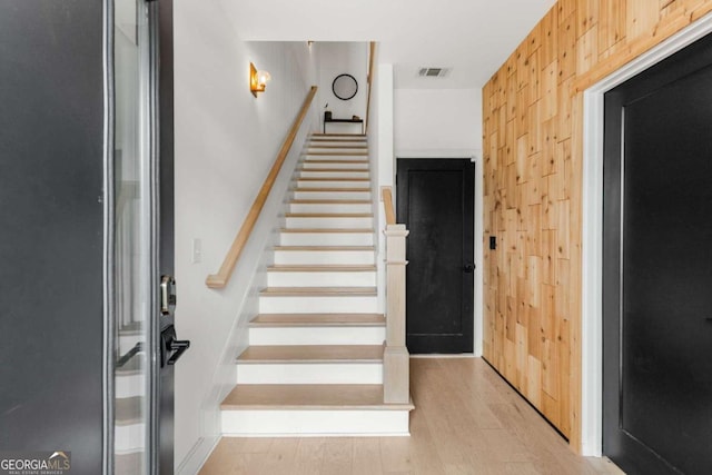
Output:
[[408,410],[222,410],[224,436],[407,436]]

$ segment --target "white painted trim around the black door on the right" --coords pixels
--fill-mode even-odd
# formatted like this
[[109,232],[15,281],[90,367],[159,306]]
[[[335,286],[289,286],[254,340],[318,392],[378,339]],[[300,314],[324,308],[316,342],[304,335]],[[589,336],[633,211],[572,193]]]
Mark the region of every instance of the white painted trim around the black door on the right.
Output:
[[582,229],[582,453],[603,442],[603,101],[604,93],[712,32],[712,13],[670,37],[584,92]]

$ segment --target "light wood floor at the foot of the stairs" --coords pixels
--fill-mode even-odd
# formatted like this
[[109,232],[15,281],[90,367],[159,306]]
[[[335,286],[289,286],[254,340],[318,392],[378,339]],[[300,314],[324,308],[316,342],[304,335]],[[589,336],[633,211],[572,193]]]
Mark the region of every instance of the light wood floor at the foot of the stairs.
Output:
[[411,437],[224,438],[200,474],[622,474],[572,453],[482,359],[415,358],[411,368]]

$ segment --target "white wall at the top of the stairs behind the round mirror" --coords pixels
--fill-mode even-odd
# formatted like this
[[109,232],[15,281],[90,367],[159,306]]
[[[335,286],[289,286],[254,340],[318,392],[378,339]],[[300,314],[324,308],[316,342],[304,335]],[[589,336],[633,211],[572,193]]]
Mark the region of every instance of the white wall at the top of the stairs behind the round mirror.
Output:
[[[319,60],[318,103],[324,117],[330,110],[335,119],[366,117],[366,76],[368,75],[368,43],[366,42],[322,42],[314,43]],[[358,91],[350,100],[342,100],[334,96],[332,83],[339,75],[352,75],[358,82]],[[328,107],[325,106],[328,103]],[[360,133],[359,125],[329,123],[327,132]]]

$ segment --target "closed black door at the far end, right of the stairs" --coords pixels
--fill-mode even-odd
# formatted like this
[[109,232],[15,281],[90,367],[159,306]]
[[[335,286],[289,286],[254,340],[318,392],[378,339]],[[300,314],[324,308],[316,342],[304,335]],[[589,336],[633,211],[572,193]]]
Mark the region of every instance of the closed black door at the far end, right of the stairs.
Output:
[[398,159],[398,222],[406,239],[406,344],[414,354],[472,353],[474,164]]

